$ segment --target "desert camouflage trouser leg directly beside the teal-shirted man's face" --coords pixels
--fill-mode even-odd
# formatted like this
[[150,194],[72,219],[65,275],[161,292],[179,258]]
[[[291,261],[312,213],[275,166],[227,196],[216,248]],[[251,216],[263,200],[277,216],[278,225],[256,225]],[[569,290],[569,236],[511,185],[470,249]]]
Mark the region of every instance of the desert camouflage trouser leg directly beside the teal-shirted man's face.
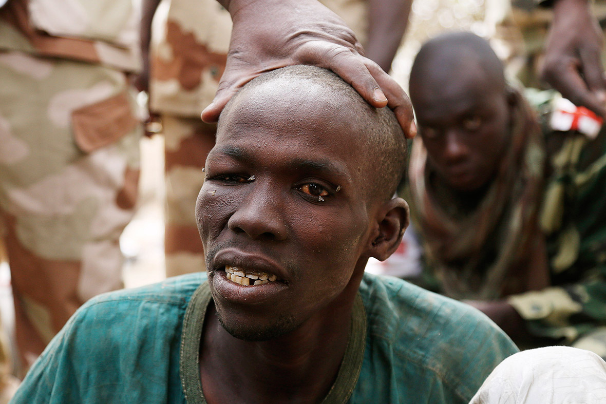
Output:
[[204,271],[204,251],[194,210],[216,125],[199,118],[162,116],[166,158],[166,275]]

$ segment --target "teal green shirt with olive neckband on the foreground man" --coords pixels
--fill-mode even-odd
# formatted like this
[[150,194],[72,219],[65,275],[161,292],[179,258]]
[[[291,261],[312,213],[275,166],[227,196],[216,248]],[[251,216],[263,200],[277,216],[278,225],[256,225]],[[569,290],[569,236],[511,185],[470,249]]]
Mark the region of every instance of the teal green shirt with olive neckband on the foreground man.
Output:
[[[204,403],[205,274],[95,297],[45,349],[13,403]],[[325,403],[467,403],[516,346],[479,311],[365,274]],[[185,398],[187,396],[187,399]]]

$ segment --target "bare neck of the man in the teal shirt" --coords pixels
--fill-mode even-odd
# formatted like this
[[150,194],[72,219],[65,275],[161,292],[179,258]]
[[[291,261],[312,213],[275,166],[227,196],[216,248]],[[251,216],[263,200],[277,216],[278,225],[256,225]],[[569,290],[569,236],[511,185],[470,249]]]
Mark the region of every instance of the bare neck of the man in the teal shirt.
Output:
[[321,402],[335,382],[347,347],[359,280],[354,283],[355,288],[348,286],[297,329],[267,341],[231,336],[211,303],[200,353],[207,402]]

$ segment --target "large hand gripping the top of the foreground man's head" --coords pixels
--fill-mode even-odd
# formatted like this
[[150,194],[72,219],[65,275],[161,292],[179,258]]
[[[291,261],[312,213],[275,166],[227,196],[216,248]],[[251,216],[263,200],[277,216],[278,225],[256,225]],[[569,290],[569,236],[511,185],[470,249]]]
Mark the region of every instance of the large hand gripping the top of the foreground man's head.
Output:
[[407,137],[413,137],[413,112],[404,90],[379,65],[364,57],[355,34],[316,0],[221,1],[233,20],[230,51],[219,89],[202,112],[216,122],[227,101],[265,71],[309,64],[328,68],[350,83],[375,107],[388,105]]

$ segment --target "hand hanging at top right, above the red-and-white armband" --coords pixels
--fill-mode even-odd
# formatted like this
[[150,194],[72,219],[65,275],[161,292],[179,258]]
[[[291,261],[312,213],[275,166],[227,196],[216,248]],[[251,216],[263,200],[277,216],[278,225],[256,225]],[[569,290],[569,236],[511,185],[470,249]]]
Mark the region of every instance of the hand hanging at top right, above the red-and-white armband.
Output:
[[602,30],[588,0],[556,0],[542,76],[565,98],[606,118]]

